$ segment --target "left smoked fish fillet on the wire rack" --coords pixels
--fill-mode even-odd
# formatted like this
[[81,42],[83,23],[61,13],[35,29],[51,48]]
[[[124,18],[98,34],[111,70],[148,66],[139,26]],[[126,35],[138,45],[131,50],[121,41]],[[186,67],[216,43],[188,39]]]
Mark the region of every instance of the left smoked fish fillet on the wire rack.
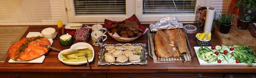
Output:
[[174,47],[168,35],[164,31],[156,31],[154,36],[154,47],[156,56],[159,58],[178,58],[179,53]]

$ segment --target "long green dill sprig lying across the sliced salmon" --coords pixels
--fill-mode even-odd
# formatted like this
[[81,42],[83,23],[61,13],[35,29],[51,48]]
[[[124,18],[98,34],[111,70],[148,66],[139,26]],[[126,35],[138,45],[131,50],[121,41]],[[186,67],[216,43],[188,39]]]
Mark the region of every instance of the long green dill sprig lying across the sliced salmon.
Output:
[[[42,36],[37,36],[35,38],[29,38],[26,40],[26,42],[24,42],[23,44],[21,44],[15,51],[14,51],[14,60],[18,59],[18,57],[20,57],[20,53],[24,53],[24,50],[28,47],[28,44],[32,41],[38,40],[40,38],[43,38]],[[19,50],[18,50],[19,49]],[[16,52],[18,51],[18,53],[16,54]],[[15,57],[15,55],[17,55],[17,57]]]

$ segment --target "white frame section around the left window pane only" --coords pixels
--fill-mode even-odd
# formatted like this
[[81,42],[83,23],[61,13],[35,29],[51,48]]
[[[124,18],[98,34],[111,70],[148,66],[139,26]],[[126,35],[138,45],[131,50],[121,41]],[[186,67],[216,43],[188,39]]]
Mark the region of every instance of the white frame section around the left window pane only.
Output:
[[[134,14],[134,1],[133,0],[125,0],[126,14],[125,15],[88,15],[88,16],[76,16],[74,9],[74,1],[73,0],[65,0],[67,4],[67,16],[69,22],[104,22],[105,19],[113,20],[113,21],[121,21],[125,18],[129,18]],[[132,7],[131,7],[132,5]]]

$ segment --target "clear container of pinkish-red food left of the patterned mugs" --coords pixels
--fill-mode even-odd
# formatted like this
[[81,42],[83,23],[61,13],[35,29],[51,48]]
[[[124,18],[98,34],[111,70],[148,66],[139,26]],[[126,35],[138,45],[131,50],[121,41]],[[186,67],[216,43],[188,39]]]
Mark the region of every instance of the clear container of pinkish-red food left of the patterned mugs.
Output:
[[89,28],[88,27],[80,27],[77,28],[75,33],[75,42],[89,42]]

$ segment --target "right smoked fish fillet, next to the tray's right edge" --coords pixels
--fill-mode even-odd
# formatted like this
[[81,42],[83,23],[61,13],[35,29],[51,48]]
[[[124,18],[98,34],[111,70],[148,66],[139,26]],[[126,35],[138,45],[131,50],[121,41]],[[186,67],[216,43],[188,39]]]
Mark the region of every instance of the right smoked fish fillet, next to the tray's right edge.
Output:
[[187,53],[187,41],[185,38],[185,33],[182,29],[170,29],[164,30],[164,32],[168,35],[170,40],[176,40],[179,44],[179,51],[181,53]]

